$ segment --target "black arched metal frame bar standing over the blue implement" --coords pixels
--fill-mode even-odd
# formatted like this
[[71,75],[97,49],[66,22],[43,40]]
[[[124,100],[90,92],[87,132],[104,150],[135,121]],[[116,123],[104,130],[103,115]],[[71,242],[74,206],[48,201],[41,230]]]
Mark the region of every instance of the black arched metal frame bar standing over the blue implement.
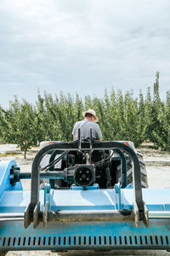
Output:
[[[44,154],[47,153],[50,149],[62,149],[62,150],[89,150],[90,143],[81,143],[79,144],[79,140],[71,143],[56,143],[48,145],[47,147],[42,148],[36,155],[35,159],[32,163],[31,169],[31,203],[26,208],[25,212],[25,227],[28,227],[29,224],[33,221],[33,212],[37,203],[39,202],[39,164],[42,160]],[[81,146],[81,147],[80,147]],[[141,177],[140,177],[140,165],[138,156],[133,151],[133,148],[129,146],[119,143],[119,142],[99,142],[93,141],[92,150],[114,150],[120,149],[127,154],[129,154],[130,159],[133,161],[133,186],[134,186],[134,203],[137,207],[135,212],[137,216],[137,226],[139,225],[139,220],[143,220],[146,222],[147,212],[144,211],[146,207],[144,207],[144,201],[142,196],[142,186],[141,186]]]

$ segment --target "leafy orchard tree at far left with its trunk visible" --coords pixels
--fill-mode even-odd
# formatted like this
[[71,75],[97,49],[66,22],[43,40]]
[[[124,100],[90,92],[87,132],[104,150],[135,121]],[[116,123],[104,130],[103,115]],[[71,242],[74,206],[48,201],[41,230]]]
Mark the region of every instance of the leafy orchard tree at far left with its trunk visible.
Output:
[[[26,100],[20,103],[17,97],[9,103],[7,111],[3,111],[3,139],[5,143],[16,143],[20,150],[26,152],[37,146],[37,114],[35,108]],[[2,122],[1,122],[2,123]]]

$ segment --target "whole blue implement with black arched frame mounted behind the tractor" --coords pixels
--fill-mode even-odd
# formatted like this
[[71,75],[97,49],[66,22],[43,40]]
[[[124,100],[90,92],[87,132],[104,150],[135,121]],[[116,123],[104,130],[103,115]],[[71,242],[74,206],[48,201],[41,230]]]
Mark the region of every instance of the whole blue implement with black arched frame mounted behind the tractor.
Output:
[[0,250],[169,249],[170,189],[142,189],[140,169],[128,145],[80,137],[42,148],[31,173],[1,161]]

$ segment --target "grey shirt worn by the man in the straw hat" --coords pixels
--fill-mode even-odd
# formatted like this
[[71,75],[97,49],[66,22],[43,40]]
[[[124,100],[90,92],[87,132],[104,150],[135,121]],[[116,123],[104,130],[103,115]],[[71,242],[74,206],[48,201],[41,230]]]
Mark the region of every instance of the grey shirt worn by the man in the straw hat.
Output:
[[78,121],[72,130],[72,135],[78,138],[78,128],[80,128],[80,136],[81,137],[90,137],[90,128],[92,128],[92,137],[94,139],[99,139],[102,137],[99,125],[88,121],[87,119],[83,119],[82,121]]

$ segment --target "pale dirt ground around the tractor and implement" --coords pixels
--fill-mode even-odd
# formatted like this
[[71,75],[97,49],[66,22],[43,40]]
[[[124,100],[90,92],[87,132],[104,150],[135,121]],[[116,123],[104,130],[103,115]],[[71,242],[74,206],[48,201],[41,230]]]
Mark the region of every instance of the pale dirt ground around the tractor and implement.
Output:
[[[148,181],[150,188],[170,188],[170,154],[161,152],[151,148],[151,144],[143,144],[139,148],[144,156],[146,164],[146,171],[148,174]],[[23,153],[13,144],[0,145],[0,160],[15,160],[20,166],[21,172],[31,172],[31,163],[37,153],[38,148],[32,148],[28,154],[27,159],[24,160]],[[23,181],[24,189],[30,189],[30,181]],[[94,252],[94,251],[72,251],[67,253],[56,253],[51,251],[26,251],[26,252],[8,252],[7,256],[97,256],[97,255],[169,255],[166,251],[156,250],[133,250],[133,251],[110,251],[110,252]]]

